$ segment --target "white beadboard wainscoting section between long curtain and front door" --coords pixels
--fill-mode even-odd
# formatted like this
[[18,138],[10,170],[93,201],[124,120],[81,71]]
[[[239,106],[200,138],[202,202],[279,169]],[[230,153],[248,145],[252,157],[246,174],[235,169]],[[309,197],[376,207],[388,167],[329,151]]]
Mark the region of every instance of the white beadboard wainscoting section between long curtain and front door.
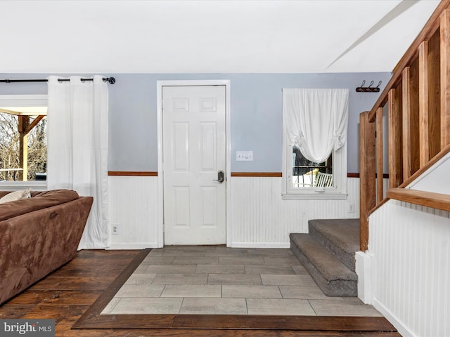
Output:
[[158,247],[158,177],[109,176],[108,184],[110,249]]

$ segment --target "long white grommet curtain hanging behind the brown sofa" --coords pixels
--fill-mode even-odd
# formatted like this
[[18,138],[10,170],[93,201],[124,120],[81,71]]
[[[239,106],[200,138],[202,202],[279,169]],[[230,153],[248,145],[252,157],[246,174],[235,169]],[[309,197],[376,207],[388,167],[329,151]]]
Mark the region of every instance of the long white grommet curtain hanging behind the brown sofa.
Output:
[[[78,249],[108,246],[108,85],[49,77],[47,188],[94,197]],[[70,225],[68,223],[68,225]]]

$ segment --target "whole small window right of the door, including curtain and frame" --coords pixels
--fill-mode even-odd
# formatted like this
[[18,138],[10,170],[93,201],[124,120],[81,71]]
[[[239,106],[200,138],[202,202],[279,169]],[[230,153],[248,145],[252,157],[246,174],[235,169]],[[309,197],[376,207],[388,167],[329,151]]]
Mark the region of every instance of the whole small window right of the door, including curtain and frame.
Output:
[[348,89],[283,89],[283,199],[347,198]]

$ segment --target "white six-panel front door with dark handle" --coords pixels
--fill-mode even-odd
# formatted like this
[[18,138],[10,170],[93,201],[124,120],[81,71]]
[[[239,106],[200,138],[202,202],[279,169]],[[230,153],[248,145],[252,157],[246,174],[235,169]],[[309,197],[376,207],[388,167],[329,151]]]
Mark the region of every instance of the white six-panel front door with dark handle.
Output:
[[163,86],[164,240],[226,243],[225,86]]

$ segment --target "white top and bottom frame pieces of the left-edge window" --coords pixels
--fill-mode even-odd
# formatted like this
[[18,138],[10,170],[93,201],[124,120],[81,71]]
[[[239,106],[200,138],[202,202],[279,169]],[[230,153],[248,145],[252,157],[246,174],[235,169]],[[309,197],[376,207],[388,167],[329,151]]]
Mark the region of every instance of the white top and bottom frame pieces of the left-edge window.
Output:
[[[47,102],[47,95],[0,95],[0,107],[46,107]],[[2,191],[24,188],[31,188],[34,191],[46,191],[47,181],[27,180],[0,182],[0,190]]]

